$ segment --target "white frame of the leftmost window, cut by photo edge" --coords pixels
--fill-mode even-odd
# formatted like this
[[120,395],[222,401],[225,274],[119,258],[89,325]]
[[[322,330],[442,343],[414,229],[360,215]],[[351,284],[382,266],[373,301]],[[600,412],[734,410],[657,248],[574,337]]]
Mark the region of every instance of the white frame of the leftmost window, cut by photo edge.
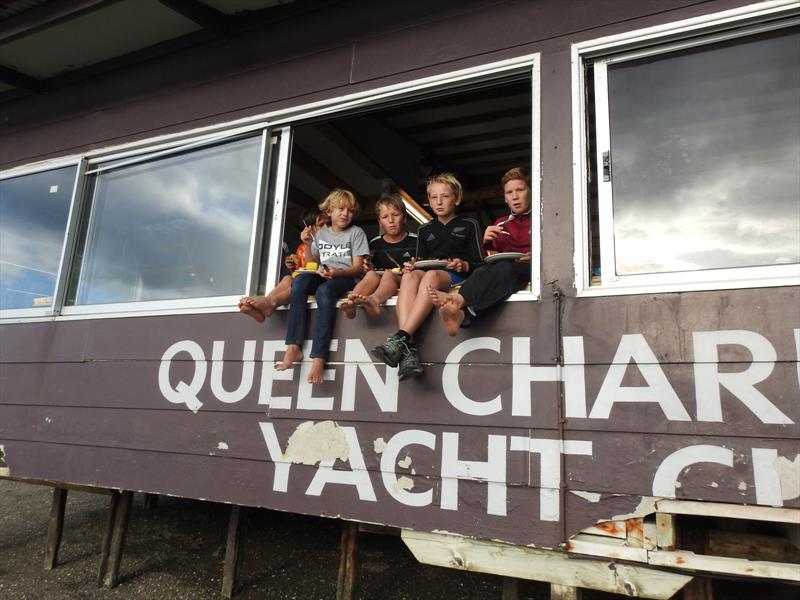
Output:
[[55,171],[65,167],[75,168],[75,179],[72,182],[72,193],[70,195],[69,208],[67,213],[67,222],[64,227],[64,237],[61,240],[61,252],[58,257],[58,271],[56,272],[55,288],[53,289],[53,296],[48,306],[37,306],[31,308],[7,308],[0,310],[0,319],[28,319],[50,317],[55,314],[57,307],[60,305],[63,285],[66,279],[68,265],[67,259],[71,256],[68,248],[71,243],[71,232],[75,229],[75,203],[76,198],[80,196],[83,184],[83,171],[85,170],[86,163],[79,156],[70,156],[55,159],[52,161],[44,161],[26,167],[9,169],[8,171],[0,172],[0,180],[14,179],[17,177],[25,177],[28,175],[37,175],[39,173],[46,173],[47,171]]

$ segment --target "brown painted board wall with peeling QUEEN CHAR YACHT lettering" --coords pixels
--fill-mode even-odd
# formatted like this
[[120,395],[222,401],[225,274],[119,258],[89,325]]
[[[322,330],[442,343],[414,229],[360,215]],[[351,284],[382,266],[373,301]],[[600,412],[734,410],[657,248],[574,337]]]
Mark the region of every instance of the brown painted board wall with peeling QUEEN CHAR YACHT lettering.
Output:
[[[167,57],[158,69],[141,65],[0,106],[0,166],[6,167],[541,52],[542,280],[558,280],[565,292],[560,313],[545,289],[543,300],[509,303],[468,337],[449,338],[432,319],[418,339],[429,363],[425,376],[399,385],[396,373],[363,353],[392,330],[393,310],[373,324],[363,315],[340,321],[334,380],[313,394],[298,384],[298,368],[291,381],[276,380],[269,388],[273,354],[262,353],[267,342],[282,340],[284,312],[262,326],[236,313],[2,325],[0,445],[11,474],[542,546],[631,511],[641,496],[653,494],[656,473],[667,470],[659,470],[664,461],[684,448],[695,448],[694,459],[704,461],[678,469],[679,487],[675,477],[666,478],[677,497],[747,504],[774,499],[774,485],[764,487],[764,477],[780,478],[785,463],[776,467],[764,457],[774,451],[788,463],[797,452],[798,288],[596,299],[574,298],[572,288],[569,44],[745,3],[476,0],[437,3],[434,14],[421,9],[430,3],[417,3],[418,11],[408,3],[380,3],[381,12],[378,3],[353,3],[291,27]],[[731,334],[731,343],[721,333],[731,331],[745,333]],[[201,350],[203,377],[186,353],[164,360],[183,340]],[[465,340],[477,349],[455,360],[451,352]],[[247,341],[255,344],[255,361],[243,364]],[[214,342],[224,343],[216,367]],[[718,361],[698,364],[696,349],[715,343]],[[637,354],[625,368],[628,344]],[[774,349],[776,360],[765,360],[763,348]],[[567,359],[563,368],[561,358]],[[252,370],[240,399],[224,402],[214,392],[219,369],[229,392]],[[744,375],[731,375],[737,372]],[[554,381],[556,375],[565,382]],[[196,413],[169,399],[175,400],[170,390],[181,380],[197,384],[202,406]],[[703,387],[709,380],[719,381]],[[530,414],[523,401],[528,395]],[[498,396],[496,411],[469,414]],[[713,416],[717,396],[720,419]],[[278,397],[288,398],[285,406]],[[602,413],[601,397],[616,400],[607,417],[592,413]],[[396,410],[386,408],[395,399]],[[285,451],[300,424],[329,420],[353,428],[350,462],[338,461],[333,474],[292,465],[281,491],[285,467],[276,467],[279,457],[271,457],[265,431],[274,427]],[[392,495],[397,485],[381,473],[379,440],[413,430],[433,447],[407,446],[383,471],[408,477],[411,492],[432,490],[427,506],[398,501]],[[339,429],[332,441],[341,442],[344,431],[351,430]],[[545,453],[542,462],[541,453],[515,449],[530,438],[550,448],[547,441],[562,435],[579,443],[574,451],[591,443],[590,454],[568,454],[562,465],[555,455]],[[454,480],[442,477],[445,463],[486,461],[490,444],[493,464],[485,477],[480,469],[478,475],[495,484],[458,481],[454,510],[448,504]],[[357,448],[365,471],[348,475]],[[729,456],[730,466],[705,460],[714,452]],[[337,475],[345,482],[333,482]],[[330,480],[314,495],[312,482],[320,477]],[[569,490],[563,502],[553,500],[559,478]],[[541,494],[543,479],[553,492]],[[590,500],[571,491],[598,495]],[[800,506],[796,497],[783,503]],[[497,506],[507,514],[494,514],[502,512]]]

